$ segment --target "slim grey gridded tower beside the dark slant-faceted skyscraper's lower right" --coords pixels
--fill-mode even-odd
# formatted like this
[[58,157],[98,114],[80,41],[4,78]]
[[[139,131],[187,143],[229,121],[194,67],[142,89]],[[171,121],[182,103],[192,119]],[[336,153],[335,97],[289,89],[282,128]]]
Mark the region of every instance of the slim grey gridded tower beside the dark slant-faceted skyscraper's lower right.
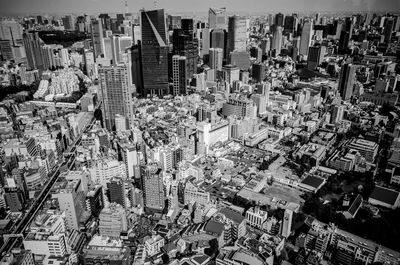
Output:
[[186,80],[186,57],[180,55],[172,56],[173,95],[186,94]]

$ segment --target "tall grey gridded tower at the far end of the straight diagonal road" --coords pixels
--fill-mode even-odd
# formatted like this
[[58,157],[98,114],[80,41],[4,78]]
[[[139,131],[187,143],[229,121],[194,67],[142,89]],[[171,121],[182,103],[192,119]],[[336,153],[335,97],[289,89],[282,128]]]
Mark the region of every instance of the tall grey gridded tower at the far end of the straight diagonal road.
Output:
[[99,69],[103,121],[108,130],[115,127],[115,115],[123,115],[130,125],[133,118],[132,72],[130,64],[102,66]]

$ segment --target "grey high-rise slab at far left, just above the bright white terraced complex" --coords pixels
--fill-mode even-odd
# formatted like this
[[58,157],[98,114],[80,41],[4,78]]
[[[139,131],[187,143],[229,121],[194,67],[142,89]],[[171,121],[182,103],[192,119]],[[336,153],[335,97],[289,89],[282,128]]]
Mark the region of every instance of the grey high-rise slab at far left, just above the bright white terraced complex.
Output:
[[30,69],[44,70],[42,56],[42,40],[39,38],[39,33],[24,33],[23,42]]

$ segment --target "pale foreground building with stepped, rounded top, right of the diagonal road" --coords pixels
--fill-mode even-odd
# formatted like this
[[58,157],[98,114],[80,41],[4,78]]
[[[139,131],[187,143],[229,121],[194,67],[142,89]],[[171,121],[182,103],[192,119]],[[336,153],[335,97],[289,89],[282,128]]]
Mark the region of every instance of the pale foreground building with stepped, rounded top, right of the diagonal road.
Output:
[[110,203],[99,215],[99,234],[111,238],[119,238],[121,232],[128,230],[128,219],[123,206]]

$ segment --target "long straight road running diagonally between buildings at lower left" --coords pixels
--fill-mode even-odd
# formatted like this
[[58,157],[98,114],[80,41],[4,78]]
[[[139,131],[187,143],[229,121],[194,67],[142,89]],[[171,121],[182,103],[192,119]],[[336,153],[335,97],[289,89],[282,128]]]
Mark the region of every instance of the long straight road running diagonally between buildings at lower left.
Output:
[[[101,102],[99,105],[96,107],[99,108],[101,105]],[[82,135],[84,132],[87,131],[89,127],[91,127],[94,122],[96,121],[96,118],[93,114],[92,120],[85,126],[85,129],[82,130],[82,132],[79,134],[79,137],[75,140],[75,142],[68,148],[68,152],[71,154],[69,158],[64,161],[63,163],[59,164],[56,166],[54,173],[52,173],[50,179],[47,181],[45,186],[43,187],[42,191],[40,192],[39,196],[37,199],[33,202],[29,210],[25,213],[24,217],[22,220],[18,223],[16,227],[14,227],[13,231],[10,234],[24,234],[26,228],[29,226],[29,224],[32,222],[33,218],[36,216],[37,212],[42,208],[43,204],[46,201],[47,196],[49,196],[51,189],[53,188],[54,184],[57,182],[58,177],[60,176],[61,169],[63,167],[67,167],[68,169],[71,169],[72,166],[75,164],[75,150],[76,147],[79,146],[82,140]],[[3,246],[0,249],[0,260],[3,259],[3,257],[9,253],[17,243],[18,238],[17,237],[8,237],[6,241],[4,242]]]

